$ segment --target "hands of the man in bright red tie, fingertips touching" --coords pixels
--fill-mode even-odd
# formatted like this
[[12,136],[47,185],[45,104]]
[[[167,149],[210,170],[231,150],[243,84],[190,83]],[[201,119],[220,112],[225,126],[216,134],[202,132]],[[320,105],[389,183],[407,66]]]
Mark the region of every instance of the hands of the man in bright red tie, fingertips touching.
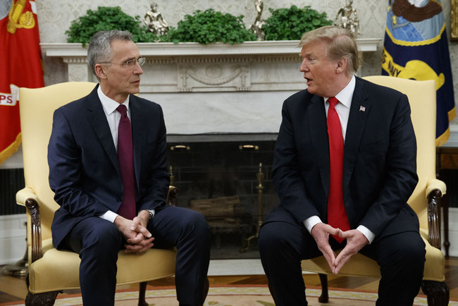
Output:
[[[311,229],[311,235],[318,245],[318,249],[323,253],[326,262],[333,274],[338,274],[344,264],[365,245],[369,244],[366,236],[354,229],[341,231],[340,228],[333,228],[328,224],[318,223]],[[347,245],[336,257],[333,249],[329,245],[329,235],[338,235],[340,238],[347,239]]]

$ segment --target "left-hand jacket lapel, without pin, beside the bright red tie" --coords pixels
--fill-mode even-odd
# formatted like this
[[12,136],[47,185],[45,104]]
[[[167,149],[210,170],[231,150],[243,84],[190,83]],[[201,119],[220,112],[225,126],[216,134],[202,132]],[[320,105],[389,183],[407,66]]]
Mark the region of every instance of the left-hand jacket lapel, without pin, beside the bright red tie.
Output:
[[308,114],[311,142],[316,152],[316,163],[320,171],[323,190],[327,195],[329,191],[329,142],[328,126],[326,125],[326,109],[322,97],[311,97]]

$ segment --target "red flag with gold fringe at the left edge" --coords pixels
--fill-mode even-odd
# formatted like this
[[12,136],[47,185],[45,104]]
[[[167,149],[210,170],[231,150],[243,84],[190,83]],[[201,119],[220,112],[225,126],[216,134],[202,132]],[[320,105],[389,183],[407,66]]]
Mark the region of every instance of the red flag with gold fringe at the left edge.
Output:
[[43,86],[35,1],[0,1],[0,164],[20,145],[18,88]]

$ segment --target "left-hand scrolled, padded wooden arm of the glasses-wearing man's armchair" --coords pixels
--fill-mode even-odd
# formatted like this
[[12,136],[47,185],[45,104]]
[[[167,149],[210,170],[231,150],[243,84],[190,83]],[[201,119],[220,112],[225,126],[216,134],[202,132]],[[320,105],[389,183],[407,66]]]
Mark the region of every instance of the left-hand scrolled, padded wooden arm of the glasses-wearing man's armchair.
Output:
[[27,211],[30,214],[30,262],[35,262],[35,260],[43,257],[42,226],[38,202],[37,195],[30,188],[23,188],[16,192],[16,203],[27,207]]

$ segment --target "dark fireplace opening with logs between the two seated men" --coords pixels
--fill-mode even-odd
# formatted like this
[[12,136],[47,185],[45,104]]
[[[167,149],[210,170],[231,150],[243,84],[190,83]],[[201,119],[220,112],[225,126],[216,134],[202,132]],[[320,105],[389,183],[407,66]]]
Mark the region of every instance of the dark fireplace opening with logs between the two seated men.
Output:
[[176,205],[201,212],[211,259],[259,258],[257,233],[278,204],[271,169],[276,135],[168,136]]

